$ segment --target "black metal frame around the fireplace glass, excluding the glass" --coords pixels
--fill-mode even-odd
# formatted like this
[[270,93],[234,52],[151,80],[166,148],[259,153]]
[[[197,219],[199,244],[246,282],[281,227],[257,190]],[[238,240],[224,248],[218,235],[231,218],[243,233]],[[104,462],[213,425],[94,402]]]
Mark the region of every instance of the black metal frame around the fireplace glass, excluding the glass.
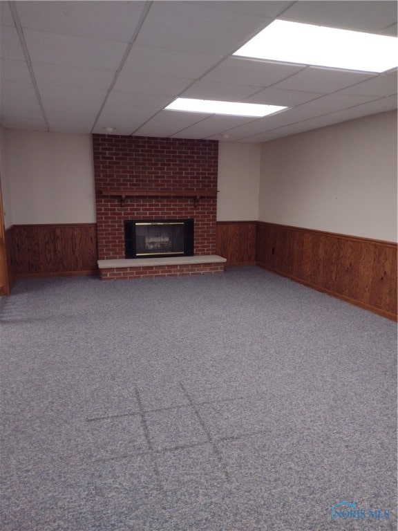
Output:
[[[138,223],[184,223],[184,252],[173,254],[153,253],[137,255],[136,225]],[[124,220],[124,246],[126,259],[193,257],[193,219],[127,219]]]

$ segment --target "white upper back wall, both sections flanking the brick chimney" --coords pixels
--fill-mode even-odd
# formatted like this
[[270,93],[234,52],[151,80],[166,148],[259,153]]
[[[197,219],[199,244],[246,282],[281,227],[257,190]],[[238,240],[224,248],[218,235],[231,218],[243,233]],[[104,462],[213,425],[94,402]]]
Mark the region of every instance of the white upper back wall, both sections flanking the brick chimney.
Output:
[[[3,134],[12,223],[95,223],[90,135]],[[259,183],[260,144],[220,142],[218,220],[256,220]]]

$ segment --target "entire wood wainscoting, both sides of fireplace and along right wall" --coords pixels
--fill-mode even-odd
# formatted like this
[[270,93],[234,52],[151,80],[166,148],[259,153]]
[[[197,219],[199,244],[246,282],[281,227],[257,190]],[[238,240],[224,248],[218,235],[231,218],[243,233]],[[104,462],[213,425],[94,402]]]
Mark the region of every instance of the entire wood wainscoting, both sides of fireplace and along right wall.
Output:
[[[97,271],[95,224],[6,230],[10,285],[17,276]],[[217,223],[227,265],[257,263],[307,286],[397,319],[397,244],[256,221]]]

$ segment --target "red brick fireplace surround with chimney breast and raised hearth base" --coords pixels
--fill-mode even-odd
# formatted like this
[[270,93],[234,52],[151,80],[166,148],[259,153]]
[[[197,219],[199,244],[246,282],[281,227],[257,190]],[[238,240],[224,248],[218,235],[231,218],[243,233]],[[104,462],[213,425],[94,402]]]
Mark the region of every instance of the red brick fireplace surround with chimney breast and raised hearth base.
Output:
[[[224,270],[220,257],[214,257],[218,176],[216,140],[96,134],[93,135],[93,154],[102,279],[167,277]],[[190,191],[197,193],[178,196]],[[206,195],[209,191],[212,196]],[[157,196],[157,192],[163,195]],[[205,263],[192,263],[192,257],[187,257],[191,259],[189,261],[184,261],[183,257],[181,263],[171,265],[167,265],[165,259],[164,263],[156,265],[146,265],[143,259],[134,259],[134,266],[131,266],[131,260],[119,262],[125,259],[124,220],[176,218],[193,218],[194,254],[201,257],[199,262]],[[104,264],[106,267],[102,267]]]

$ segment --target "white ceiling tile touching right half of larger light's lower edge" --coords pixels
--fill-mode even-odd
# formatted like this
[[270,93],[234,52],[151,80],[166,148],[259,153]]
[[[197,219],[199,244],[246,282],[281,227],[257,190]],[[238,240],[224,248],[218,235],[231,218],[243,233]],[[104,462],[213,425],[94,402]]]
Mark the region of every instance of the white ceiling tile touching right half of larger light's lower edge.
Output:
[[305,70],[292,75],[292,77],[289,77],[287,80],[275,84],[273,88],[329,94],[361,81],[369,80],[374,76],[374,74],[368,73],[309,66],[305,68]]

